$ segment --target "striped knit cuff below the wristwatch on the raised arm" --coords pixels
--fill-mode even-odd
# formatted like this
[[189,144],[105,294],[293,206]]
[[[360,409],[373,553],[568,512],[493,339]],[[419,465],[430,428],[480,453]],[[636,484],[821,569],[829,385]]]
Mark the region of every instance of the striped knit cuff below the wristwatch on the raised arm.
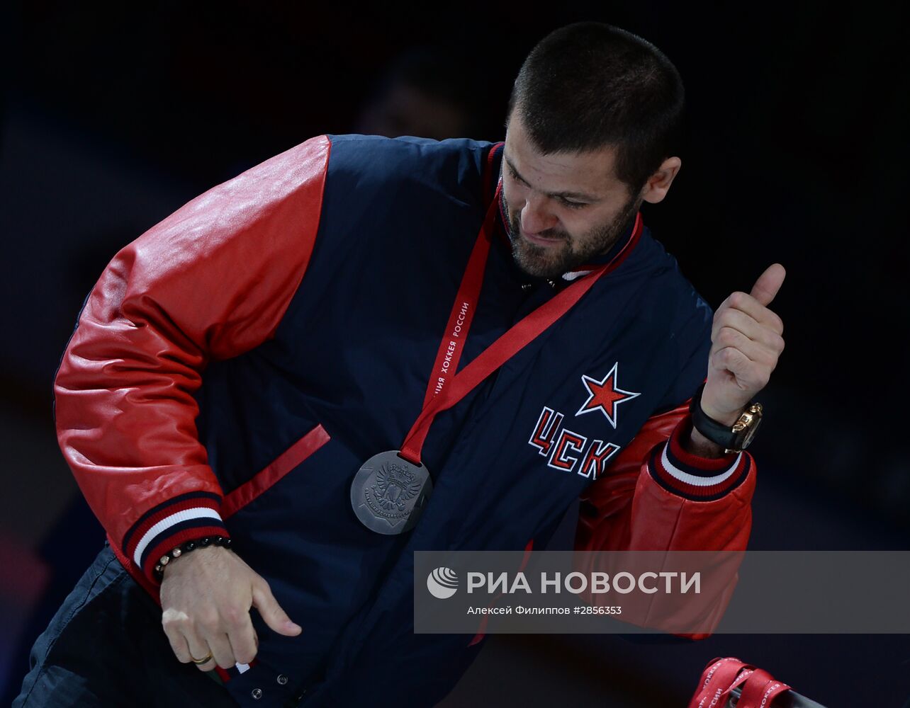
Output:
[[692,418],[686,414],[673,428],[670,439],[653,447],[648,470],[657,484],[684,499],[697,502],[720,499],[743,484],[752,469],[752,456],[741,452],[699,457],[686,452],[681,441],[688,437],[691,426]]

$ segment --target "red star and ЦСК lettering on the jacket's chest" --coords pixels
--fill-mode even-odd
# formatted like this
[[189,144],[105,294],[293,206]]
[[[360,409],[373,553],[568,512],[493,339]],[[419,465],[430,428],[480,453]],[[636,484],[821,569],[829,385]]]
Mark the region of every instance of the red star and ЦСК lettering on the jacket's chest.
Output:
[[[600,411],[616,428],[619,404],[641,395],[623,391],[616,384],[618,366],[619,362],[613,364],[610,373],[600,381],[592,376],[581,376],[581,384],[588,392],[588,400],[581,404],[576,416]],[[564,417],[558,411],[544,406],[528,444],[536,447],[538,454],[546,457],[547,465],[553,469],[572,472],[577,467],[577,472],[582,477],[597,479],[606,470],[620,446],[602,440],[591,440],[589,444],[584,435],[562,427]]]

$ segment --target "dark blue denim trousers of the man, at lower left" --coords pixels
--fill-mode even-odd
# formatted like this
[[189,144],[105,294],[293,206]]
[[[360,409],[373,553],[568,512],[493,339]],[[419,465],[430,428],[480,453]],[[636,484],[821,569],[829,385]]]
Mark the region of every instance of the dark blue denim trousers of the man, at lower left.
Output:
[[177,661],[161,608],[107,545],[35,641],[30,665],[14,708],[237,706],[207,674]]

